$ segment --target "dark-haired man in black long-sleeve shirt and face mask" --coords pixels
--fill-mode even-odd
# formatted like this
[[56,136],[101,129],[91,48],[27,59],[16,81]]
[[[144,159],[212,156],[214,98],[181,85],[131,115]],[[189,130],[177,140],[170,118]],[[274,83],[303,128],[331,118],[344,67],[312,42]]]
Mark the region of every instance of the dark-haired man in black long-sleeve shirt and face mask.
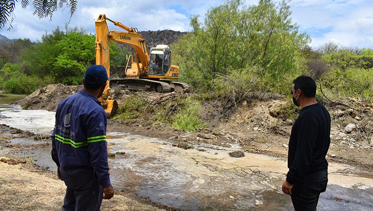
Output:
[[295,210],[316,210],[328,183],[325,156],[330,145],[330,115],[316,101],[316,83],[311,77],[297,77],[291,95],[301,111],[291,129],[289,171],[282,191],[291,196]]

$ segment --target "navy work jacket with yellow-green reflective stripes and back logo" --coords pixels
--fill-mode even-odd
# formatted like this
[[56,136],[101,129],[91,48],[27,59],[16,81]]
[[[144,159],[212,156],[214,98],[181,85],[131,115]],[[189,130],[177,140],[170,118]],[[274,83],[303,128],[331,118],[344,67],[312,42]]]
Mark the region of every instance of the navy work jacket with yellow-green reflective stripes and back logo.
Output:
[[100,101],[87,91],[58,103],[51,153],[68,187],[83,188],[93,177],[102,187],[110,185],[106,125]]

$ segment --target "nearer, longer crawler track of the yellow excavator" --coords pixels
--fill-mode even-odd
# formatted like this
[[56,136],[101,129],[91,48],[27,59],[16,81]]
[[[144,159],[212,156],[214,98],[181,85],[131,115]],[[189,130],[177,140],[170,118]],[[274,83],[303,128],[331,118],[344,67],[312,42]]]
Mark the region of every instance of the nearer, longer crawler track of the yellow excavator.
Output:
[[141,78],[111,79],[110,86],[130,90],[157,91],[160,93],[172,91],[171,85],[167,82]]

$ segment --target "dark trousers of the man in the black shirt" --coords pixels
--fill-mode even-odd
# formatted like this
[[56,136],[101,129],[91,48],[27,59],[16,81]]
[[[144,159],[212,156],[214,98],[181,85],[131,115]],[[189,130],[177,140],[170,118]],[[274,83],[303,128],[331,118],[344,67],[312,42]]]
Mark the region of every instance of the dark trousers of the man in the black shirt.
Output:
[[325,192],[328,184],[328,170],[306,175],[303,181],[298,181],[291,189],[291,201],[294,209],[315,211],[320,193]]

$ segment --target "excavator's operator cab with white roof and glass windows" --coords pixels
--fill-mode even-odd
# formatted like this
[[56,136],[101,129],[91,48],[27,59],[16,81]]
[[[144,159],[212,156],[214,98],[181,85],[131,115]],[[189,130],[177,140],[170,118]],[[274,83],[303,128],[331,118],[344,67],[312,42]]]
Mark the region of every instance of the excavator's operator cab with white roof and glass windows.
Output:
[[150,49],[149,75],[165,75],[171,65],[171,50],[168,45]]

